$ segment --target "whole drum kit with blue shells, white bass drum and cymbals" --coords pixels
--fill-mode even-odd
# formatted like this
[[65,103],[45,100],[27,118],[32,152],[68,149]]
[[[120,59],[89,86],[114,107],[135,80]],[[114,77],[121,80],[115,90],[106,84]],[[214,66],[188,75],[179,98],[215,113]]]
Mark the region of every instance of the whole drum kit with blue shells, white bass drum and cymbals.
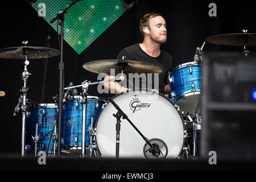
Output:
[[[206,39],[214,44],[255,46],[256,34],[226,34]],[[157,90],[127,89],[113,98],[89,96],[88,88],[106,81],[68,85],[63,93],[63,107],[58,103],[28,102],[28,59],[60,55],[60,51],[45,47],[0,49],[2,59],[23,59],[23,87],[15,113],[22,111],[22,156],[44,151],[48,156],[60,151],[63,156],[82,158],[152,158],[176,159],[198,157],[197,135],[202,129],[200,115],[201,65],[203,47],[196,49],[194,61],[180,64],[168,73],[170,94]],[[246,50],[244,50],[246,51]],[[247,56],[247,51],[245,52]],[[160,73],[156,65],[135,60],[98,60],[82,65],[93,73]],[[77,96],[77,88],[83,92]],[[61,115],[61,132],[58,117]],[[122,122],[121,122],[121,119]],[[116,122],[115,122],[116,121]],[[190,142],[189,142],[190,141]],[[192,146],[192,151],[190,147]]]

